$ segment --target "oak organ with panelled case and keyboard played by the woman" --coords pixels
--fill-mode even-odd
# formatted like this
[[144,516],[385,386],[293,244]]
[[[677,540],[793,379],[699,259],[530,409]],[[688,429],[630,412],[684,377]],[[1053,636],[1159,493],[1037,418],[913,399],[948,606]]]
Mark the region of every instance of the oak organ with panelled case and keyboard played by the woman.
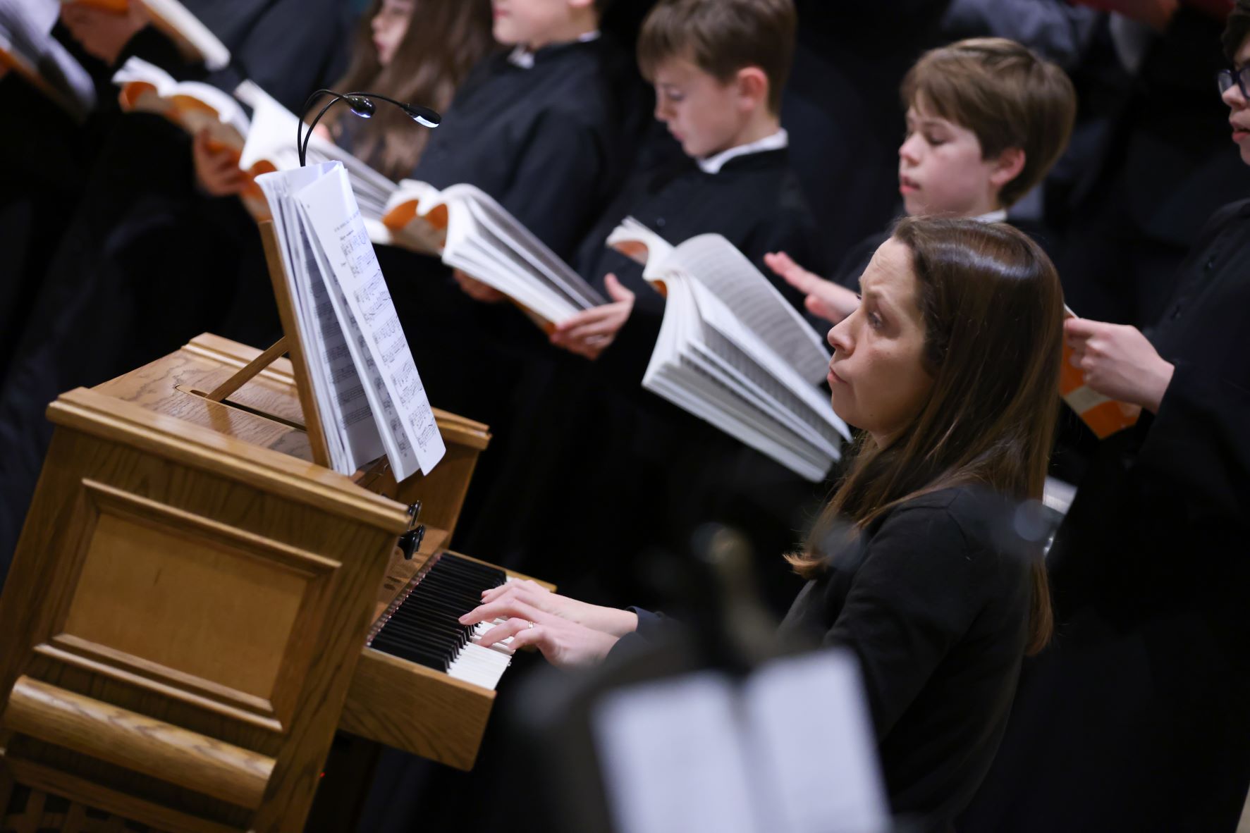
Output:
[[455,618],[509,573],[445,547],[486,427],[436,412],[429,475],[345,477],[286,360],[206,396],[259,356],[205,335],[49,407],[0,597],[12,781],[154,831],[294,832],[336,729],[472,766],[509,654]]

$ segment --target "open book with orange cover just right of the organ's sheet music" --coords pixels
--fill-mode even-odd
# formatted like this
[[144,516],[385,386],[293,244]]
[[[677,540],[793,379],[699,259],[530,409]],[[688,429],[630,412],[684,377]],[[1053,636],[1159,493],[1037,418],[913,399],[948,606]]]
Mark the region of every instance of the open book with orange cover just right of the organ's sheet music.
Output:
[[428,255],[491,286],[546,322],[606,303],[541,240],[472,185],[441,191],[404,180],[386,204],[390,242]]

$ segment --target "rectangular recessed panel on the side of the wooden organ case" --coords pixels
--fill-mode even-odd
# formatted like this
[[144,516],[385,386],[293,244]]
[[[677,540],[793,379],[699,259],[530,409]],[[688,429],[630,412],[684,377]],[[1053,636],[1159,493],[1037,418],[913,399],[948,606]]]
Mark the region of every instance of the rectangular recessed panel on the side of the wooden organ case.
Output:
[[84,488],[94,523],[54,642],[289,719],[310,661],[290,649],[292,634],[324,613],[339,563],[102,483]]

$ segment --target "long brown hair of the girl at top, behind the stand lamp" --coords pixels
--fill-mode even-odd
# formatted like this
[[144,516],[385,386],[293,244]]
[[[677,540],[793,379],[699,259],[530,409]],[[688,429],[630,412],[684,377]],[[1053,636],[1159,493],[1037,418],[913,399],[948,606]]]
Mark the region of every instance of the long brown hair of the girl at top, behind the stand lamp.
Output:
[[[399,101],[444,110],[456,87],[488,51],[490,0],[418,0],[412,19],[395,56],[385,67],[378,62],[372,19],[381,7],[374,0],[361,15],[351,44],[351,64],[335,84],[339,91],[380,92]],[[344,122],[345,107],[334,107],[324,124],[336,139],[351,124],[351,152],[369,161],[392,180],[402,179],[416,166],[429,131],[418,129],[398,107],[379,105],[369,121]]]

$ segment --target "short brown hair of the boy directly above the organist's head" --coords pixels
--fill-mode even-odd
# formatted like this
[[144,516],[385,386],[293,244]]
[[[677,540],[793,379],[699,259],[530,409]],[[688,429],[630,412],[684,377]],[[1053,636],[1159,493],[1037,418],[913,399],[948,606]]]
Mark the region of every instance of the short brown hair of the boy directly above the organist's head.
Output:
[[999,195],[1004,206],[1046,176],[1076,120],[1076,91],[1064,70],[1004,37],[974,37],[925,52],[901,92],[904,106],[976,134],[982,159],[1009,147],[1024,150],[1024,169]]

